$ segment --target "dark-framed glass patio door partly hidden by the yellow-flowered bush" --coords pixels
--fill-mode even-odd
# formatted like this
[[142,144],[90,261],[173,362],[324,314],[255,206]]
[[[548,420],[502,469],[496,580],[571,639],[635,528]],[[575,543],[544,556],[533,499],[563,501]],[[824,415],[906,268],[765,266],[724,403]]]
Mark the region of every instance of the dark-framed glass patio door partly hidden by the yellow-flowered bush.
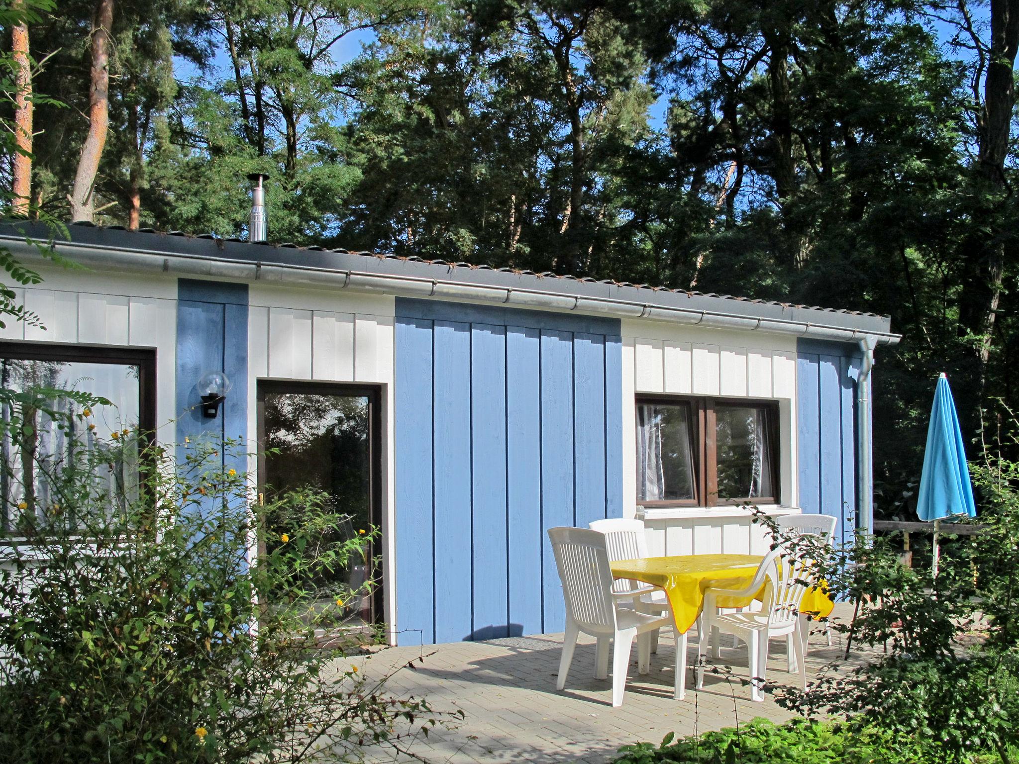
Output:
[[[338,534],[322,544],[368,536],[380,526],[379,393],[375,388],[308,382],[259,382],[259,484],[267,494],[314,488],[329,508],[344,515]],[[301,508],[287,516],[265,516],[267,545],[278,543],[301,522]],[[342,569],[305,584],[337,633],[376,623],[381,613],[380,545],[366,540]],[[374,580],[374,586],[368,582]],[[350,596],[354,591],[355,595]],[[336,601],[342,605],[336,607]],[[328,637],[328,635],[325,635]]]

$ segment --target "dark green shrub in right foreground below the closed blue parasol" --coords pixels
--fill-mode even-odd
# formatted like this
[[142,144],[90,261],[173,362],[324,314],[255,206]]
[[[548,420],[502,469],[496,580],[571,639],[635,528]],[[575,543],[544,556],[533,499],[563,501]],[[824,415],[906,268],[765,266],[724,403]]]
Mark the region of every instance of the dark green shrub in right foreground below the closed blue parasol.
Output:
[[999,444],[974,465],[986,528],[953,539],[945,526],[936,576],[905,567],[891,539],[835,551],[822,576],[856,608],[837,627],[872,652],[848,673],[833,664],[806,691],[783,689],[781,704],[840,716],[854,733],[913,741],[934,761],[979,751],[1010,761],[1019,745],[1019,466],[1003,454],[1015,446]]

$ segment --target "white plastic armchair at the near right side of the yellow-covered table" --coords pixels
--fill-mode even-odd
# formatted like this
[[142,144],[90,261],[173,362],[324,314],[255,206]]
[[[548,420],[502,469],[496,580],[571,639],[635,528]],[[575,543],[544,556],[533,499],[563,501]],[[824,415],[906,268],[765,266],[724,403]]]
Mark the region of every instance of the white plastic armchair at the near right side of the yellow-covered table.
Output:
[[[768,552],[754,575],[753,581],[745,589],[708,589],[704,593],[703,629],[697,647],[697,687],[704,681],[704,655],[708,635],[714,640],[715,631],[731,634],[747,645],[750,665],[750,697],[754,701],[764,700],[761,690],[767,667],[768,642],[774,637],[790,637],[796,653],[795,666],[799,669],[800,683],[807,686],[806,666],[803,661],[803,640],[799,637],[799,609],[803,595],[807,591],[805,582],[812,576],[812,569],[805,560],[788,557],[782,559],[782,548]],[[765,587],[764,602],[760,610],[743,610],[735,613],[718,613],[718,597],[753,597]],[[793,656],[789,656],[789,670],[794,669]]]

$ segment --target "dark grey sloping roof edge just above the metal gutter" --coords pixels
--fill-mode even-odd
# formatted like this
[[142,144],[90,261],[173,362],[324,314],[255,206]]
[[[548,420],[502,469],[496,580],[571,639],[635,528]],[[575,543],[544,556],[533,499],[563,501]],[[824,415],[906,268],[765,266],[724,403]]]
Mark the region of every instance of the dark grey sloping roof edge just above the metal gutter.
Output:
[[160,255],[180,256],[251,264],[256,269],[253,274],[257,274],[257,269],[262,266],[283,266],[311,268],[322,272],[357,271],[418,280],[452,280],[478,286],[626,303],[631,306],[645,306],[648,310],[660,308],[692,313],[702,312],[721,317],[731,316],[734,319],[793,322],[818,328],[829,327],[836,330],[874,333],[881,335],[880,339],[883,342],[898,340],[898,336],[891,333],[891,318],[873,313],[749,299],[731,294],[705,294],[609,279],[598,281],[547,272],[534,273],[511,268],[493,269],[485,265],[423,260],[417,257],[405,258],[374,252],[325,250],[320,247],[298,247],[292,243],[252,243],[235,238],[217,238],[211,234],[195,236],[178,231],[160,233],[152,229],[128,231],[119,226],[102,227],[79,223],[69,226],[68,232],[69,236],[58,234],[54,237],[52,230],[41,223],[23,221],[0,223],[0,239],[23,240],[26,235],[44,240],[53,238],[58,252],[61,249],[60,243],[66,242],[72,247],[146,254],[154,258]]

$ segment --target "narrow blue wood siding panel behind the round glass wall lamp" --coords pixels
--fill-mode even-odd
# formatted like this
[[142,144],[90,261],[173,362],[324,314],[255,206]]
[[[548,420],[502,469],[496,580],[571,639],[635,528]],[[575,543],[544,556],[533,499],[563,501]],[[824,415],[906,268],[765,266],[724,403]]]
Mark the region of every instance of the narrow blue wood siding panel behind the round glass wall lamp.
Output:
[[[223,371],[233,384],[215,419],[200,408],[198,381]],[[248,286],[179,279],[177,282],[176,439],[246,439],[248,433]],[[224,467],[247,470],[248,444],[222,452]],[[229,462],[229,463],[227,463]]]

